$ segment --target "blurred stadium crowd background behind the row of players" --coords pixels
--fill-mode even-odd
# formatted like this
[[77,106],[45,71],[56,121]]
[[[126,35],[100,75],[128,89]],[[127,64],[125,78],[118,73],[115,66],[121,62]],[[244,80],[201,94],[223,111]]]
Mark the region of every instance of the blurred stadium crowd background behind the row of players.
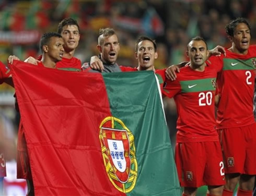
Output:
[[[255,0],[1,0],[0,60],[6,64],[9,55],[16,55],[21,60],[28,56],[37,57],[40,54],[38,43],[41,34],[56,31],[58,23],[66,17],[72,17],[79,23],[81,35],[75,56],[82,63],[98,54],[98,30],[106,27],[115,29],[118,34],[118,64],[133,67],[137,66],[133,55],[135,40],[141,34],[157,42],[159,57],[155,61],[156,68],[186,60],[185,48],[195,35],[203,36],[209,48],[216,45],[229,47],[224,28],[230,19],[236,17],[248,19],[252,26],[251,44],[256,43]],[[14,109],[14,90],[5,84],[0,86],[0,90],[0,142],[6,143],[8,153],[5,157],[11,161],[16,157],[19,116]],[[174,149],[176,106],[173,100],[164,100],[164,104]],[[8,164],[15,167],[14,161]],[[14,170],[8,171],[7,186],[14,186],[14,173]],[[197,195],[203,195],[205,190],[201,188]]]

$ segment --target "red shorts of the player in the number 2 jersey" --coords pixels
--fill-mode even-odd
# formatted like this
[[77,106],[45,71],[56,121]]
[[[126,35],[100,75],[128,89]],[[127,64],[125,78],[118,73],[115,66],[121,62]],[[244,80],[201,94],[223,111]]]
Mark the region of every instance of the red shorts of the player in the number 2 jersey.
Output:
[[[256,175],[256,123],[245,127],[218,129],[226,174]],[[237,145],[239,144],[239,145]]]

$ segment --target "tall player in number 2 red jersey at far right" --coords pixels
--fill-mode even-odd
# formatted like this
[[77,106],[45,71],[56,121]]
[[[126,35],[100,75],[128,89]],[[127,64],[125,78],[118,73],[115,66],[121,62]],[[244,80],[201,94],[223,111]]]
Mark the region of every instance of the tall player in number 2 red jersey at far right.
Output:
[[256,125],[253,117],[256,45],[250,46],[250,25],[243,18],[228,23],[226,33],[232,46],[226,57],[211,57],[222,69],[217,78],[220,101],[217,130],[223,148],[226,185],[223,195],[252,195],[256,175]]

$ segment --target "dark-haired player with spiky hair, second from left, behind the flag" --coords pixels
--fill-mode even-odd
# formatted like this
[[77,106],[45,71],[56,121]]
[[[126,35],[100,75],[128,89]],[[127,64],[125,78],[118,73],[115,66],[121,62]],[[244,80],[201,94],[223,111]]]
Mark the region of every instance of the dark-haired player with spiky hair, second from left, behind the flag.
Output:
[[[58,26],[57,32],[62,35],[64,41],[64,54],[62,60],[56,64],[56,68],[80,71],[81,61],[80,59],[74,57],[76,47],[78,46],[80,33],[79,26],[76,20],[72,18],[63,19]],[[8,63],[12,64],[13,59],[16,59],[15,56],[9,56]],[[39,56],[38,59],[33,57],[28,57],[25,62],[37,65],[41,60],[42,56]]]

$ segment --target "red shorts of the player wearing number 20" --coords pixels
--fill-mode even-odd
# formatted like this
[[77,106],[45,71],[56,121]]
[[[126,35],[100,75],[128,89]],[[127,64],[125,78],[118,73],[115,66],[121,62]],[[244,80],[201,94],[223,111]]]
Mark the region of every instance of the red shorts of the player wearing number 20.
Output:
[[224,164],[219,142],[177,143],[175,161],[181,187],[224,185]]

